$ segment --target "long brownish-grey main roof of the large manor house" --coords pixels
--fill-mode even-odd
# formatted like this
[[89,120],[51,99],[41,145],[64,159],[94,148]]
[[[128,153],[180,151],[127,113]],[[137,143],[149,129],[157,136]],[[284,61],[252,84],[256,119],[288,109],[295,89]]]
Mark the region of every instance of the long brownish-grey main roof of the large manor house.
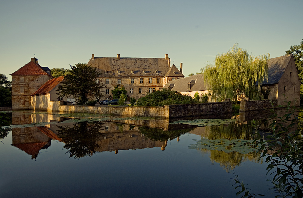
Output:
[[164,76],[170,69],[169,58],[94,57],[87,65],[100,69],[102,77]]

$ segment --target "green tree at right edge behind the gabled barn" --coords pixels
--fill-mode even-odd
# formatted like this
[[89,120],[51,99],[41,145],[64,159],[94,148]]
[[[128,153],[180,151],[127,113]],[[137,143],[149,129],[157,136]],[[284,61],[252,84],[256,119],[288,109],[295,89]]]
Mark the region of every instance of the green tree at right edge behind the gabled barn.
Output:
[[[303,39],[302,39],[303,40]],[[299,45],[290,46],[287,54],[293,54],[301,84],[303,84],[303,41]]]

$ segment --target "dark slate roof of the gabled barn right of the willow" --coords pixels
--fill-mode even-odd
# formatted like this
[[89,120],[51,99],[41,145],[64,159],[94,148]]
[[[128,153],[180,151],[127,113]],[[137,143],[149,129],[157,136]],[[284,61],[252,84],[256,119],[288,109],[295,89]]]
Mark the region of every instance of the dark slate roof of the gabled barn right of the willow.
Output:
[[280,81],[289,61],[293,57],[292,54],[280,56],[276,58],[271,58],[268,60],[268,80],[264,80],[263,85],[265,84],[277,84]]

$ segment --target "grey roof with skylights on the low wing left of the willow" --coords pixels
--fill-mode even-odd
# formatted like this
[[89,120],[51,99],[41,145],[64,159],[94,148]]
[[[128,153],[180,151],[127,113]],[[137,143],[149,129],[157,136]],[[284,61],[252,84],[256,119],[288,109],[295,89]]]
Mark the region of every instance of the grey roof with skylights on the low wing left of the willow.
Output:
[[[188,84],[192,84],[195,81],[195,84],[188,90]],[[188,76],[186,78],[180,78],[174,81],[169,81],[166,83],[163,88],[168,88],[170,84],[175,84],[171,90],[178,92],[189,92],[189,91],[202,91],[207,90],[207,86],[204,85],[204,76],[203,74]]]

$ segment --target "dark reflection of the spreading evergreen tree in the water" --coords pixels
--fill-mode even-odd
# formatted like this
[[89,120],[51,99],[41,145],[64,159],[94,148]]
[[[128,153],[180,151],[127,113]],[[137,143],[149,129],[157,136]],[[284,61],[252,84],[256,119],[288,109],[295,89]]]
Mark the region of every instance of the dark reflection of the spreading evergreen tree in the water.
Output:
[[96,143],[102,133],[101,123],[80,122],[74,124],[74,127],[58,126],[60,130],[59,137],[65,142],[64,148],[68,149],[70,157],[81,158],[95,153]]

